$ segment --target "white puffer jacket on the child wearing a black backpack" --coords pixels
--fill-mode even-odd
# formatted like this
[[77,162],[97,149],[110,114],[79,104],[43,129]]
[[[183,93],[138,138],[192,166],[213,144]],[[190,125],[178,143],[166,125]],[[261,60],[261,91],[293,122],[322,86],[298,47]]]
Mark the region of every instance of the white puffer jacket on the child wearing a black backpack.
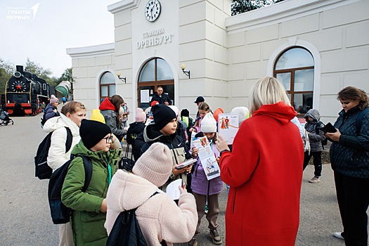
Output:
[[[70,150],[65,153],[65,143],[67,142],[67,129],[72,131],[72,145]],[[48,119],[44,124],[44,131],[51,132],[51,146],[48,150],[47,164],[55,171],[65,162],[70,160],[70,153],[73,147],[81,140],[79,136],[79,127],[72,119],[60,113],[60,116]]]

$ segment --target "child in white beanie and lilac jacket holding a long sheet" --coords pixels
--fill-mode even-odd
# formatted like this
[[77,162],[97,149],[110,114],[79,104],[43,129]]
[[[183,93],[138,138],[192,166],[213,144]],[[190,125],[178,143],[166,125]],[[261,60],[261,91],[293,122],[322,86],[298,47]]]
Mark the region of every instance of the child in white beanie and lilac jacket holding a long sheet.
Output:
[[[211,112],[207,113],[202,119],[200,132],[196,134],[195,138],[201,138],[203,136],[207,137],[212,151],[216,157],[216,162],[219,162],[219,151],[216,149],[216,121]],[[191,144],[193,145],[193,143]],[[202,167],[200,158],[198,157],[199,149],[195,146],[192,147],[193,157],[198,158],[195,167],[193,169],[192,183],[191,187],[193,190],[193,195],[196,200],[196,207],[198,209],[198,226],[196,228],[195,236],[199,233],[200,222],[202,216],[205,214],[205,205],[209,207],[207,212],[207,221],[209,221],[210,237],[212,242],[216,245],[222,243],[221,237],[218,231],[218,215],[219,215],[219,193],[221,193],[221,188],[223,187],[223,181],[221,181],[220,176],[216,176],[214,179],[207,179],[205,174],[205,169]]]

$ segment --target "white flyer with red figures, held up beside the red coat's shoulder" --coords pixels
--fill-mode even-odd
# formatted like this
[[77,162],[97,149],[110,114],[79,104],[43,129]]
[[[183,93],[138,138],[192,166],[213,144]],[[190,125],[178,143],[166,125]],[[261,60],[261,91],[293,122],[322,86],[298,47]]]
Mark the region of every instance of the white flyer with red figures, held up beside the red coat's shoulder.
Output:
[[233,144],[235,134],[238,128],[238,115],[233,114],[219,114],[218,115],[218,132],[223,136],[228,145]]

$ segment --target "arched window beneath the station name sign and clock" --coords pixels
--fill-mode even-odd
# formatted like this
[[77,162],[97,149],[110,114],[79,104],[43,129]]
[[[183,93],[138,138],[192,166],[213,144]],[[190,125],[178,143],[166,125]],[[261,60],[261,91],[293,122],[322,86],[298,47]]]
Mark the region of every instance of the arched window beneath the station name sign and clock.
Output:
[[138,76],[138,107],[150,107],[150,101],[157,86],[162,86],[164,93],[171,98],[174,105],[174,77],[168,63],[162,58],[153,58],[143,65]]

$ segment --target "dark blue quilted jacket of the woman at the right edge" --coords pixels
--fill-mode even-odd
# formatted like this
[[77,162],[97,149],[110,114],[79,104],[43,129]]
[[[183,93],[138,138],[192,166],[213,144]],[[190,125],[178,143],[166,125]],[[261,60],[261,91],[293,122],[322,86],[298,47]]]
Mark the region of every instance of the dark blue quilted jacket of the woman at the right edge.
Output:
[[364,115],[357,134],[356,118],[360,112],[358,107],[339,112],[335,127],[342,135],[330,146],[330,163],[339,174],[369,179],[369,114]]

